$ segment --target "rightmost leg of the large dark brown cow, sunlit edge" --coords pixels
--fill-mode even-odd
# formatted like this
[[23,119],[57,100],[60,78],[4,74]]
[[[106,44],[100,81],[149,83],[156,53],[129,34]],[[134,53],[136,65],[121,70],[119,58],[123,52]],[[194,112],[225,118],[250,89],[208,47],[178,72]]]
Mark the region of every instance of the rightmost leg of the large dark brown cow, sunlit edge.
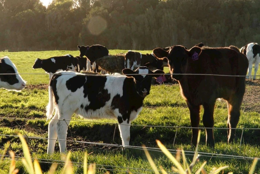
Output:
[[[242,103],[243,95],[233,96],[232,100],[228,101],[228,117],[227,117],[227,128],[236,128],[239,117],[240,117],[240,106]],[[236,136],[236,129],[227,130],[228,143],[231,143]]]

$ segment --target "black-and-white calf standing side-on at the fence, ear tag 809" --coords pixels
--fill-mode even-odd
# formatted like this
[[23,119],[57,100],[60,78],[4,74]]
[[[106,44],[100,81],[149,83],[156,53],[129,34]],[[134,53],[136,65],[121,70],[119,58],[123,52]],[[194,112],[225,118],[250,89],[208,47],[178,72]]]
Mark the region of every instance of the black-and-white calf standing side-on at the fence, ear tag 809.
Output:
[[48,154],[54,152],[57,137],[60,152],[66,151],[68,120],[73,113],[88,119],[118,120],[122,145],[129,145],[130,124],[142,110],[144,97],[150,93],[151,79],[164,72],[139,67],[135,71],[123,69],[122,73],[125,76],[85,76],[70,71],[53,75],[49,83],[47,118],[52,117],[54,105],[56,111],[48,128]]

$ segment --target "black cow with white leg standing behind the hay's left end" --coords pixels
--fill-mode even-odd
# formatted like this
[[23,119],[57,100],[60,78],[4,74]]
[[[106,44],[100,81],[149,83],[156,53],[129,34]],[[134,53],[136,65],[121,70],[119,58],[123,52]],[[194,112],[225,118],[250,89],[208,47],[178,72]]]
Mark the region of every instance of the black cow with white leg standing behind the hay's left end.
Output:
[[91,70],[93,72],[98,71],[98,67],[96,67],[96,60],[109,55],[109,51],[103,45],[91,45],[91,46],[79,46],[78,49],[80,51],[80,57],[87,56],[88,60],[91,63]]

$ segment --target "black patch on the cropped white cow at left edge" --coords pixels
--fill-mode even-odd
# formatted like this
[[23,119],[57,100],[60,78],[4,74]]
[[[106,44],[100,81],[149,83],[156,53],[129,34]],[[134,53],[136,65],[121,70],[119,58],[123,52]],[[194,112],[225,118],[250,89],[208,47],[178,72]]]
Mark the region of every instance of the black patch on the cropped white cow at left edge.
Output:
[[[5,63],[5,58],[0,59],[0,80],[3,82],[7,82],[10,85],[16,84],[19,80],[16,78],[14,68]],[[12,74],[12,75],[4,75],[4,74]]]

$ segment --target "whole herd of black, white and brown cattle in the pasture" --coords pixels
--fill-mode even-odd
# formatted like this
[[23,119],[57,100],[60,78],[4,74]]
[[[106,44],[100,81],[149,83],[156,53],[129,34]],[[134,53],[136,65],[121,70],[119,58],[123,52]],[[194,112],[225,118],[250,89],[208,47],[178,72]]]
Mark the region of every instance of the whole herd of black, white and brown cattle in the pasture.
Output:
[[[178,81],[182,97],[188,105],[192,144],[195,145],[197,141],[202,105],[206,143],[214,146],[212,128],[217,98],[227,101],[230,143],[236,131],[231,128],[236,128],[240,117],[245,79],[251,75],[252,64],[255,64],[255,79],[260,63],[260,46],[257,43],[247,44],[240,50],[232,45],[210,48],[199,43],[191,49],[181,45],[156,48],[151,54],[128,51],[125,54],[125,69],[122,70],[124,75],[86,76],[79,72],[98,72],[100,69],[95,61],[108,56],[109,51],[102,45],[78,48],[80,56],[36,59],[33,65],[34,69],[42,68],[50,77],[46,113],[47,118],[51,119],[48,127],[48,154],[54,152],[57,138],[60,152],[66,151],[67,129],[73,113],[90,119],[117,119],[122,145],[128,146],[130,124],[142,110],[143,100],[150,93],[152,77],[162,77],[160,74],[164,74],[162,70],[165,66],[169,67],[171,78]],[[25,87],[25,81],[8,57],[0,59],[0,87],[8,90],[22,90]]]

